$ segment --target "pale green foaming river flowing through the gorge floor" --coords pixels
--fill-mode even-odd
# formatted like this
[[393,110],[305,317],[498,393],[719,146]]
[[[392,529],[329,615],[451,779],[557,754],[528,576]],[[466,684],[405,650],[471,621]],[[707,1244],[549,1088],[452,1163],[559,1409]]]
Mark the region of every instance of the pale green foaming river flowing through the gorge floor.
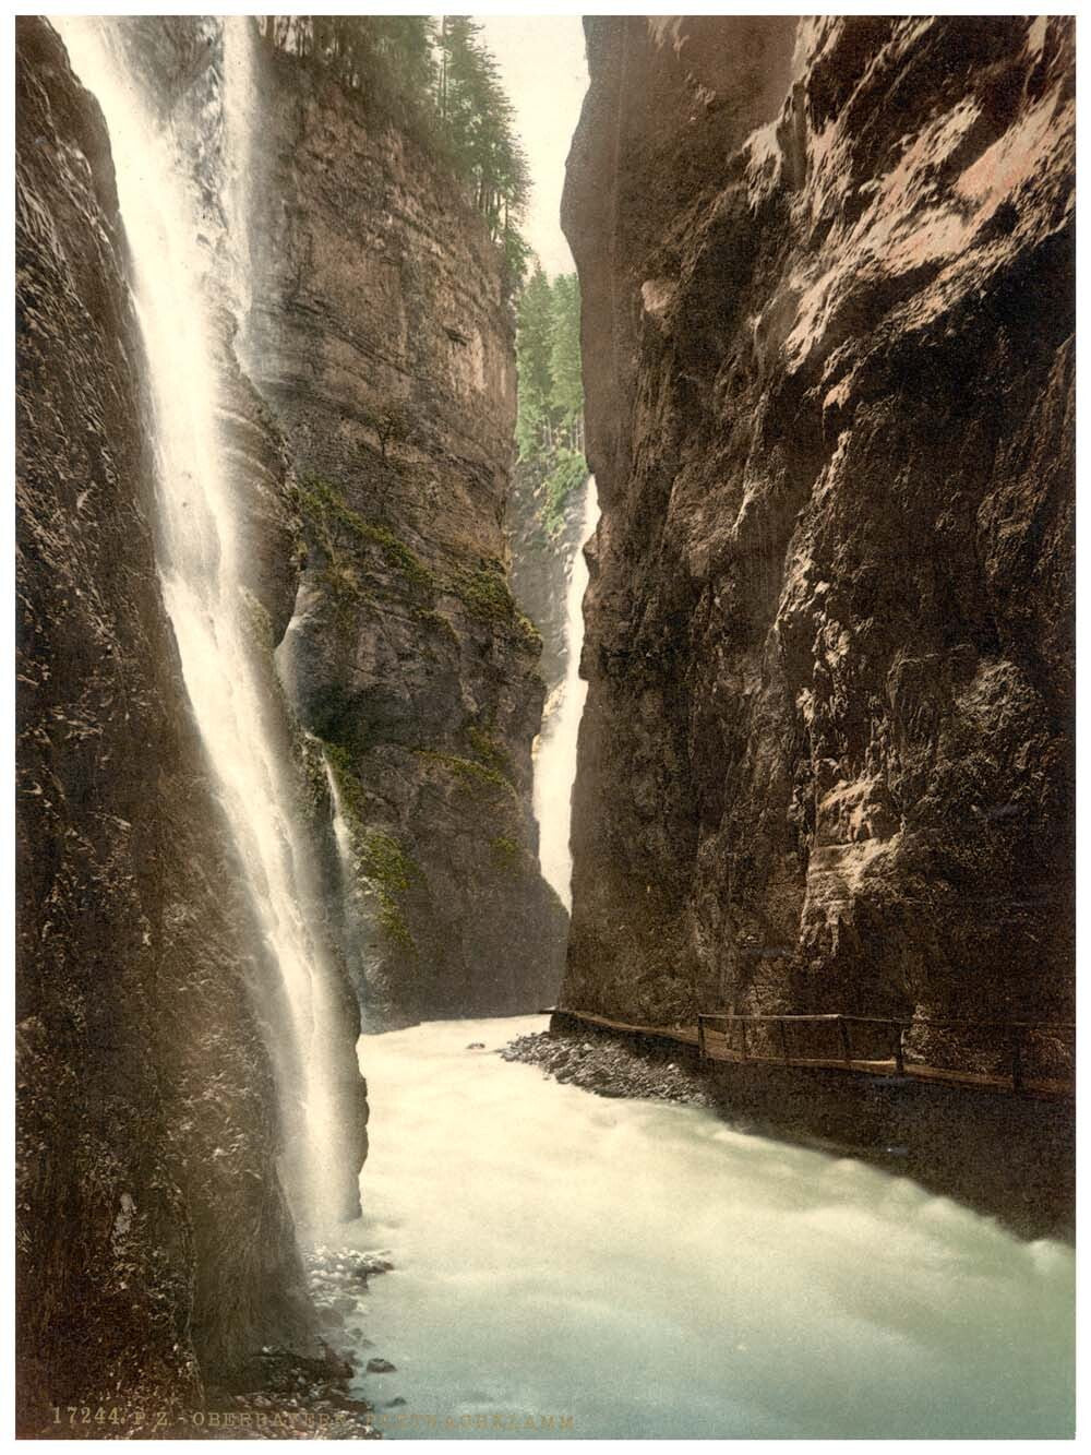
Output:
[[1069,1248],[490,1053],[543,1026],[367,1040],[349,1235],[396,1270],[349,1323],[396,1365],[359,1381],[387,1433],[569,1416],[576,1438],[1072,1435]]

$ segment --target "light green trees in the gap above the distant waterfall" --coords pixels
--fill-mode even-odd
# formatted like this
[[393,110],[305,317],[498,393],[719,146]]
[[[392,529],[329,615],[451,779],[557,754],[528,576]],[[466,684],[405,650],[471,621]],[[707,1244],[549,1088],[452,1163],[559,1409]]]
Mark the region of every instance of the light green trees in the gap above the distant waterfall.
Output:
[[579,308],[576,275],[562,275],[550,284],[535,265],[519,297],[515,435],[521,463],[531,464],[541,476],[540,519],[550,535],[563,528],[567,502],[588,477]]

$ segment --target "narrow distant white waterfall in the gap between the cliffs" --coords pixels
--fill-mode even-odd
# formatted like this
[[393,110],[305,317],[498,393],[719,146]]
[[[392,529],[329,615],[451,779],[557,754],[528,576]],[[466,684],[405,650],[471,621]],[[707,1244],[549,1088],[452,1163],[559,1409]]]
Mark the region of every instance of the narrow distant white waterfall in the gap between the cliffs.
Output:
[[534,749],[534,816],[538,821],[538,858],[541,872],[572,908],[572,784],[576,780],[576,741],[588,684],[579,675],[583,646],[583,592],[588,589],[588,563],[582,547],[598,525],[598,490],[591,476],[583,486],[579,546],[573,553],[564,613],[564,681],[546,706],[541,733]]

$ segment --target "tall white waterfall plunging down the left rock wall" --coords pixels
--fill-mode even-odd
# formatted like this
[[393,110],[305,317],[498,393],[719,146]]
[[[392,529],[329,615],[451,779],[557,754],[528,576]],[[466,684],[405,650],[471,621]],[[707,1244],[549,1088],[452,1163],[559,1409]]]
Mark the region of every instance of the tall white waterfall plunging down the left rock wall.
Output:
[[[209,207],[208,157],[202,201],[192,180],[198,141],[191,137],[186,150],[144,95],[119,22],[57,20],[109,131],[150,371],[163,599],[260,931],[257,960],[272,975],[257,986],[256,1007],[278,1080],[282,1177],[297,1221],[317,1228],[345,1211],[351,1112],[336,1072],[336,966],[305,917],[316,898],[311,856],[292,812],[294,767],[273,732],[273,668],[243,588],[239,466],[223,428],[230,406],[214,308],[227,307],[244,326],[249,153],[239,151],[253,127],[249,22],[223,25],[223,129]],[[208,124],[202,112],[201,127]]]

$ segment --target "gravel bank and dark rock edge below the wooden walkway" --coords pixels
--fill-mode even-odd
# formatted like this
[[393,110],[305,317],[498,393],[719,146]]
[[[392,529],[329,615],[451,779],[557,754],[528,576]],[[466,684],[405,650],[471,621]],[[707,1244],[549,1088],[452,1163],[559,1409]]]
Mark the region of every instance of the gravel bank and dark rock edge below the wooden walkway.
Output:
[[735,1131],[860,1157],[998,1218],[1023,1238],[1075,1237],[1075,1106],[812,1068],[701,1062],[676,1042],[557,1011],[505,1059],[607,1097],[713,1110]]

